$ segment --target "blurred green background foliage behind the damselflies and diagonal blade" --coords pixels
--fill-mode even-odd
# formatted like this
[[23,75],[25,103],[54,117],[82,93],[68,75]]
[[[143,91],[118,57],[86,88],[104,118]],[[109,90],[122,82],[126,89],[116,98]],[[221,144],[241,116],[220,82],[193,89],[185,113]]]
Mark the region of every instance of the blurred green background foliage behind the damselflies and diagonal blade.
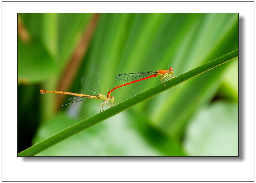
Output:
[[[94,14],[19,14],[31,40],[18,38],[18,152],[99,112],[99,100],[55,110],[70,58]],[[173,67],[178,76],[238,49],[237,13],[100,14],[68,92],[99,65],[100,92],[125,72]],[[158,77],[112,92],[115,103],[160,84]],[[71,98],[72,96],[66,96]],[[65,104],[68,103],[66,100]],[[62,105],[61,104],[61,105]],[[97,123],[36,156],[238,156],[238,59]]]

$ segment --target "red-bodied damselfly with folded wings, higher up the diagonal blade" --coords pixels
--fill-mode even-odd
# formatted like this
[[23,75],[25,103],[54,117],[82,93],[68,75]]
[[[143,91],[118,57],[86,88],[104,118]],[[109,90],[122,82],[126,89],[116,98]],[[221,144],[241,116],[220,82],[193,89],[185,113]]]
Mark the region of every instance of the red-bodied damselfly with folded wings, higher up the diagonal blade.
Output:
[[[108,98],[110,97],[111,92],[115,89],[120,88],[122,86],[130,85],[132,83],[136,83],[138,81],[146,80],[152,77],[160,76],[160,80],[164,83],[163,79],[167,80],[167,78],[174,78],[173,68],[170,67],[169,70],[157,70],[157,71],[148,71],[148,72],[135,72],[135,73],[121,73],[116,76],[116,81],[131,81],[130,83],[126,83],[120,86],[116,86],[108,92]],[[171,77],[173,76],[173,77]],[[165,85],[165,84],[164,84]],[[165,85],[166,86],[166,85]]]

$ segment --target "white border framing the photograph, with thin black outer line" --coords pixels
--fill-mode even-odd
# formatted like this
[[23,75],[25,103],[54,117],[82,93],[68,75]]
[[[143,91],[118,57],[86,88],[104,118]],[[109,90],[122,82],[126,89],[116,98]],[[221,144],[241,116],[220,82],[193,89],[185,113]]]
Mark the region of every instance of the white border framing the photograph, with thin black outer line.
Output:
[[[239,13],[241,156],[17,157],[17,13],[32,12]],[[2,181],[254,181],[254,2],[2,2],[1,16]]]

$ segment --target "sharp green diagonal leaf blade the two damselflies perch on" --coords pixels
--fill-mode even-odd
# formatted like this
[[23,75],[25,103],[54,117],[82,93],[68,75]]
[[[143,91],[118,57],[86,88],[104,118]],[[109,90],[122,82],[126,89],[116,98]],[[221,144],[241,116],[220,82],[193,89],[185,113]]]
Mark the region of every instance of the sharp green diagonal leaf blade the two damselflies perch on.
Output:
[[69,128],[66,128],[59,133],[54,134],[53,136],[29,147],[28,149],[18,153],[18,156],[33,156],[40,151],[45,150],[46,148],[68,138],[69,136],[72,136],[86,128],[89,128],[92,125],[95,125],[111,116],[114,116],[115,114],[118,114],[119,112],[122,112],[128,108],[131,108],[132,106],[143,102],[151,97],[154,97],[155,95],[173,87],[180,83],[183,83],[186,80],[189,80],[193,77],[196,77],[197,75],[203,74],[206,71],[209,71],[213,69],[214,67],[220,66],[221,64],[224,64],[230,60],[233,60],[234,58],[238,57],[238,50],[234,50],[226,55],[223,55],[222,57],[216,58],[215,60],[212,60],[206,64],[203,64],[195,69],[192,69],[191,71],[188,71],[184,74],[181,74],[177,76],[176,78],[171,79],[170,81],[165,82],[165,85],[160,84],[158,86],[155,86],[154,88],[151,88],[141,94],[138,94],[128,100],[125,100],[124,102],[119,103],[118,105],[103,111],[102,113],[96,114],[92,117],[89,117],[85,120],[82,120],[81,122],[76,123],[75,125],[70,126]]

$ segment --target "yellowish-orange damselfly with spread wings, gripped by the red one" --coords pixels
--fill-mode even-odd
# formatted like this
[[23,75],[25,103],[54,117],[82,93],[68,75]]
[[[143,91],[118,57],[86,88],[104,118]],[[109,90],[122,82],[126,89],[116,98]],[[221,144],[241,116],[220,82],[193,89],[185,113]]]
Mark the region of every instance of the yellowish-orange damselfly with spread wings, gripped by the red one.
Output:
[[[40,90],[40,92],[42,94],[43,93],[57,93],[57,94],[65,94],[65,95],[77,96],[77,97],[74,97],[74,98],[69,98],[68,100],[73,100],[73,99],[77,99],[77,98],[86,98],[86,99],[83,99],[83,100],[88,100],[90,98],[96,98],[96,99],[104,101],[103,103],[101,103],[99,105],[99,107],[101,106],[103,111],[104,111],[103,106],[106,106],[105,104],[111,106],[111,104],[109,104],[109,103],[110,102],[114,103],[114,98],[115,97],[113,97],[113,96],[107,97],[107,96],[105,96],[105,95],[100,93],[100,87],[99,87],[99,67],[98,67],[97,64],[94,64],[92,66],[92,74],[94,76],[93,79],[92,79],[92,81],[93,81],[92,83],[91,83],[91,81],[87,77],[82,77],[81,78],[81,84],[82,84],[83,88],[85,88],[89,92],[94,93],[95,95],[86,95],[86,94],[64,92],[64,91],[48,91],[48,90]],[[83,100],[78,100],[78,101],[75,101],[75,102],[80,102],[80,101],[83,101]],[[75,102],[70,102],[70,103],[67,103],[67,104],[64,104],[64,105],[72,104],[72,103],[75,103]],[[62,106],[64,106],[64,105],[62,105]],[[106,107],[108,108],[108,106],[106,106]],[[100,112],[101,112],[101,108],[100,108]]]

